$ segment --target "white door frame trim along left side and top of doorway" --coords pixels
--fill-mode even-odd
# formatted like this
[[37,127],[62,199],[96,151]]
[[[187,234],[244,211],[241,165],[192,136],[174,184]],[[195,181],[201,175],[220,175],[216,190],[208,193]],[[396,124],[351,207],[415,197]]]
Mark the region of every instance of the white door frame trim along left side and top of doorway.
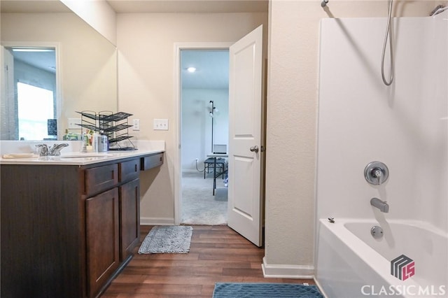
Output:
[[174,225],[182,220],[182,89],[181,50],[228,50],[232,42],[174,43]]

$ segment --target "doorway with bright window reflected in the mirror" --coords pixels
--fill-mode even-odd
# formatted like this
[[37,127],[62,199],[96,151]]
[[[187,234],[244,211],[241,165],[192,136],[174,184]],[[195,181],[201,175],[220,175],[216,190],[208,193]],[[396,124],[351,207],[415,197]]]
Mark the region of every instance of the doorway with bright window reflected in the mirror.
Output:
[[57,43],[2,42],[2,140],[55,140],[60,114]]

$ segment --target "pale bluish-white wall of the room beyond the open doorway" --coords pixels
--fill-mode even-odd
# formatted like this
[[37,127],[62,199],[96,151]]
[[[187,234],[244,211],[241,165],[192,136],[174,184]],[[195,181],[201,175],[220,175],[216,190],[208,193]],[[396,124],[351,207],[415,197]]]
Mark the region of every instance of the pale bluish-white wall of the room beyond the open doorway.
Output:
[[182,171],[204,169],[204,160],[211,148],[210,101],[214,101],[214,143],[228,145],[229,90],[182,90]]

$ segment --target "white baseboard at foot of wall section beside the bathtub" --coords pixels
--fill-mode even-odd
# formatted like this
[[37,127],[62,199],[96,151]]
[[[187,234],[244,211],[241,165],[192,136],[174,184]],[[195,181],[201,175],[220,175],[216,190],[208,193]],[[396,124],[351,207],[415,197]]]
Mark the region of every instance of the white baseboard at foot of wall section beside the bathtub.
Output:
[[314,278],[314,266],[271,265],[266,264],[266,257],[263,257],[263,264],[261,267],[263,276],[266,278]]

